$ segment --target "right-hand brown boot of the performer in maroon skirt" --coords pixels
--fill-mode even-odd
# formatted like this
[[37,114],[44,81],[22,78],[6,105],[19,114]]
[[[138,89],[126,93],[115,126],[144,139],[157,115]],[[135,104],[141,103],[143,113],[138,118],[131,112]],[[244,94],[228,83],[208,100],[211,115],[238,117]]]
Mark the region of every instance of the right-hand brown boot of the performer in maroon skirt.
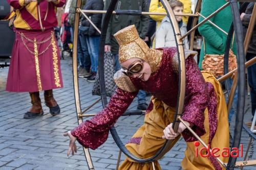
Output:
[[52,90],[45,90],[45,104],[50,108],[51,115],[55,116],[60,113],[60,108],[55,99],[53,98]]

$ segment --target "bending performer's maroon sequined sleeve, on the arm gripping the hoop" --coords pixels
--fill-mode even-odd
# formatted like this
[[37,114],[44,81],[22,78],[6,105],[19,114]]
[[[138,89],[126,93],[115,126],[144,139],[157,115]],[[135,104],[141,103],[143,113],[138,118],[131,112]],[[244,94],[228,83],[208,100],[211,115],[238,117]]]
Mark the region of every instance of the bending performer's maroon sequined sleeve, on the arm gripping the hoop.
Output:
[[[186,98],[182,119],[192,126],[198,136],[205,134],[204,110],[207,107],[209,95],[204,78],[193,56],[186,59]],[[185,129],[182,132],[185,141],[197,140],[194,135]]]

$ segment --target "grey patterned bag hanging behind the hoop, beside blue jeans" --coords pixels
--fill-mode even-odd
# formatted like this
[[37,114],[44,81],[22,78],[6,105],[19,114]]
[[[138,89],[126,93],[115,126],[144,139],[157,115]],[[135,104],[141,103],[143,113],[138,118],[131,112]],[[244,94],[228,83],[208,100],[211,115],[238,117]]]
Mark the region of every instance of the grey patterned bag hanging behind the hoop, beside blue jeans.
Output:
[[[114,94],[117,88],[113,79],[114,74],[115,74],[114,56],[113,54],[111,54],[111,52],[106,52],[104,54],[104,80],[105,80],[106,96],[109,96],[109,97],[111,97],[112,94]],[[101,95],[100,86],[99,86],[99,71],[97,71],[95,82],[93,84],[92,93],[93,95]]]

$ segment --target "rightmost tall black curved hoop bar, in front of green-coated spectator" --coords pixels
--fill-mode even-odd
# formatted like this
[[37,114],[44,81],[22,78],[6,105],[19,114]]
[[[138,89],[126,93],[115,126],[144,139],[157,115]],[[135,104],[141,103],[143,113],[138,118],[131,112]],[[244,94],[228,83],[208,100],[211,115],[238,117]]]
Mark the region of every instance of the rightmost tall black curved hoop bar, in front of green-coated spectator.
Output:
[[[243,42],[243,30],[240,20],[240,13],[238,4],[236,1],[230,0],[230,6],[233,16],[233,24],[236,37],[236,45],[238,51],[238,110],[236,115],[236,125],[234,126],[234,137],[232,148],[238,148],[241,140],[243,118],[244,118],[244,106],[245,106],[245,56],[244,56],[244,42]],[[234,169],[237,158],[230,156],[228,159],[227,169]]]

